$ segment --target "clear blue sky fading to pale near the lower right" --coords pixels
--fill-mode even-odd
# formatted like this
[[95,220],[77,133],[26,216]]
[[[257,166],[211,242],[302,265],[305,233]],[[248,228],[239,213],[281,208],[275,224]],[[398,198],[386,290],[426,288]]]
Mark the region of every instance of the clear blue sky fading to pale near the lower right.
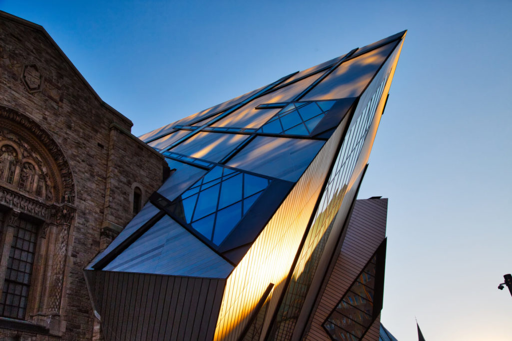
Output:
[[0,0],[147,131],[403,29],[360,198],[389,197],[382,322],[510,340],[512,2]]

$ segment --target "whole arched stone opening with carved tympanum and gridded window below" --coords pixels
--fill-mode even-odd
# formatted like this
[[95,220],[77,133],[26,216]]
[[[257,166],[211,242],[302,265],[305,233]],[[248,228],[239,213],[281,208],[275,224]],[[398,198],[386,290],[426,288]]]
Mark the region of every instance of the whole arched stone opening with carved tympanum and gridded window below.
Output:
[[0,320],[59,329],[75,195],[57,142],[0,105]]

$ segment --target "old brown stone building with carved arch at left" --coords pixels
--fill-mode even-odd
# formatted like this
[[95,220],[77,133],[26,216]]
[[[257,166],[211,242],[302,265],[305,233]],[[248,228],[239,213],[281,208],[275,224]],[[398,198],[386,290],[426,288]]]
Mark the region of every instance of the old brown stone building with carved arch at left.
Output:
[[82,270],[168,175],[131,127],[44,28],[0,12],[0,339],[97,336]]

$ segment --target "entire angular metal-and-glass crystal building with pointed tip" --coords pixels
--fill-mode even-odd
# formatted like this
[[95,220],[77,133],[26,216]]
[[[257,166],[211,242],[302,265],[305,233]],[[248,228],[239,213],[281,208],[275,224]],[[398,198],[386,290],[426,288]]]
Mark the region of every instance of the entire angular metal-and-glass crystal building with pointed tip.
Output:
[[171,174],[84,270],[106,339],[378,339],[387,200],[355,198],[405,35],[141,136]]

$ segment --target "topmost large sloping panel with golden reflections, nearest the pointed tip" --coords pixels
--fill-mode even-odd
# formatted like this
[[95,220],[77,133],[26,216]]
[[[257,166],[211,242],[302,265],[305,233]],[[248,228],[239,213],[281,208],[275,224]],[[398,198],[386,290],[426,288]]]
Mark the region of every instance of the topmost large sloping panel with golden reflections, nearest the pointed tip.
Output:
[[380,48],[343,62],[336,70],[304,96],[303,100],[359,96],[396,45],[397,42],[393,41]]

